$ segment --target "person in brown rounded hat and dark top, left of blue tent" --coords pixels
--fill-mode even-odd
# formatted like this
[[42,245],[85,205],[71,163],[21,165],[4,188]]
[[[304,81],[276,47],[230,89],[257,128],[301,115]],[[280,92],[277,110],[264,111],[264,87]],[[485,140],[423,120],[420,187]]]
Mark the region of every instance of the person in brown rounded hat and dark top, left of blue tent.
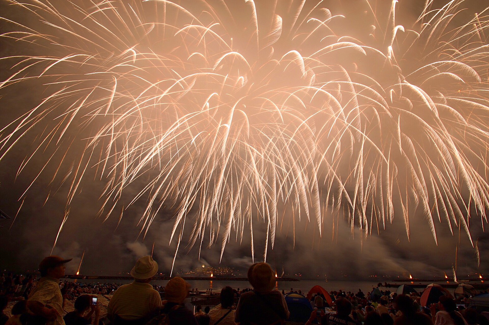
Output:
[[241,295],[234,321],[240,325],[283,324],[290,313],[282,293],[273,290],[276,279],[270,265],[251,265],[248,269],[248,281],[254,290]]

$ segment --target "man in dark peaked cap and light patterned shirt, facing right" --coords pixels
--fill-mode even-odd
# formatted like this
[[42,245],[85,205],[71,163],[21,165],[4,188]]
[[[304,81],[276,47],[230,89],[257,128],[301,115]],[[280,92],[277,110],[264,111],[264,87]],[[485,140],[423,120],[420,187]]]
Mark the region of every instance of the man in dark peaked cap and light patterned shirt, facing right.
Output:
[[27,323],[35,323],[36,317],[47,320],[49,325],[65,325],[63,320],[63,296],[59,286],[60,278],[65,276],[65,263],[71,259],[63,259],[51,255],[39,264],[41,279],[32,289],[27,300],[30,315]]

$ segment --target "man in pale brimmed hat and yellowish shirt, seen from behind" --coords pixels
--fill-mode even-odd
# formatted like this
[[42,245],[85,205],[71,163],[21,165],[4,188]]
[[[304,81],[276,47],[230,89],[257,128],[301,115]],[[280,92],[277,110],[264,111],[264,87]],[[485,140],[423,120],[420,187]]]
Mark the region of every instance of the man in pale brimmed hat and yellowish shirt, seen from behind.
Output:
[[115,324],[146,324],[147,317],[161,307],[159,292],[153,289],[151,280],[158,272],[158,264],[151,256],[137,260],[131,270],[134,282],[121,285],[107,306],[109,319]]

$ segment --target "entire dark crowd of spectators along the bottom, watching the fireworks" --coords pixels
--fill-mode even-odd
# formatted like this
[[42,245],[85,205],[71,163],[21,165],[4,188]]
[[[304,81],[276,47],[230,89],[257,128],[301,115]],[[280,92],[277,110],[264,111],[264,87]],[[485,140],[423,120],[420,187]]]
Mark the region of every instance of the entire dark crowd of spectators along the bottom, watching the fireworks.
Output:
[[[131,270],[133,283],[123,285],[61,281],[69,261],[46,257],[39,266],[38,281],[32,275],[2,274],[0,325],[265,325],[286,324],[290,316],[285,290],[275,290],[275,273],[265,263],[249,268],[250,288],[226,286],[219,294],[190,288],[180,277],[165,286],[151,284],[158,264],[150,256],[136,262]],[[292,288],[290,292],[302,294]],[[99,295],[109,300],[104,317],[96,298]],[[219,295],[219,304],[204,310],[197,306],[194,313],[193,305],[185,303],[190,295]],[[378,287],[366,293],[360,289],[356,293],[318,292],[310,299],[312,312],[305,324],[489,325],[484,314],[468,307],[467,299],[442,296],[437,304],[421,307],[420,298],[416,292],[397,295]],[[17,301],[10,317],[3,312],[9,300]],[[68,313],[67,300],[74,300],[74,310]]]

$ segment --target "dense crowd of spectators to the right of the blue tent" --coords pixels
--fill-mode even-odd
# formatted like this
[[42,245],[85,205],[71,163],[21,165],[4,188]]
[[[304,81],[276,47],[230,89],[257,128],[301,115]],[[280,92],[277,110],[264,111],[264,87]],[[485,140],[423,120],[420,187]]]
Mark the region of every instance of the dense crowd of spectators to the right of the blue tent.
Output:
[[[397,295],[378,288],[367,294],[361,290],[356,294],[332,291],[331,306],[324,298],[324,295],[312,297],[311,305],[315,308],[306,325],[489,325],[489,314],[470,308],[467,299],[455,301],[441,296],[438,303],[421,307],[421,297],[416,292]],[[322,305],[336,312],[326,313],[318,307]]]

